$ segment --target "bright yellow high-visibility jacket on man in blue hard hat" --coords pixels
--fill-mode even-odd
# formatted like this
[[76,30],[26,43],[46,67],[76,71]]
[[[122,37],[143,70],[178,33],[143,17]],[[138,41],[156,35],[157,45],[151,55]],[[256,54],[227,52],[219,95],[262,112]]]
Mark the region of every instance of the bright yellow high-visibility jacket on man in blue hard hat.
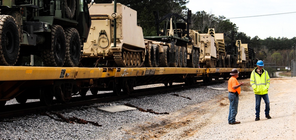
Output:
[[270,84],[269,75],[267,71],[263,69],[264,71],[260,77],[260,75],[255,72],[257,69],[258,68],[255,68],[251,73],[250,84],[255,94],[267,94]]

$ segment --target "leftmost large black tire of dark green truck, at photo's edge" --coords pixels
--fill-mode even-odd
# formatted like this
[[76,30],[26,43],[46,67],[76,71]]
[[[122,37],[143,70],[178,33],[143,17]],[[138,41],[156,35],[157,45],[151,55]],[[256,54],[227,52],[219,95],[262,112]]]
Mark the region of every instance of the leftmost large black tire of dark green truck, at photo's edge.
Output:
[[19,54],[20,36],[15,19],[0,15],[0,65],[15,65]]

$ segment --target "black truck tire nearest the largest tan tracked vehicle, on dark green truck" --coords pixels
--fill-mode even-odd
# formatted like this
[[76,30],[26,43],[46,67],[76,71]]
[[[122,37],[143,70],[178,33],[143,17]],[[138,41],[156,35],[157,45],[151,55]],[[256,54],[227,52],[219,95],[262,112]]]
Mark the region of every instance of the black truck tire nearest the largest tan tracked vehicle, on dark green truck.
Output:
[[81,42],[75,28],[66,28],[66,60],[64,67],[77,67],[80,61]]

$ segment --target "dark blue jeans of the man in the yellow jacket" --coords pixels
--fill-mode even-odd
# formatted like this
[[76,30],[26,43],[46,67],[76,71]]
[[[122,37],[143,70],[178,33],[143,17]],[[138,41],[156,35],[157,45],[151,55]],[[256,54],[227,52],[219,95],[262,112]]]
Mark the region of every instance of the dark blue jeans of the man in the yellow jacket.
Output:
[[255,110],[256,110],[256,117],[259,117],[260,115],[260,103],[261,103],[261,98],[264,100],[265,102],[265,115],[269,115],[269,99],[268,99],[268,95],[267,94],[263,94],[263,95],[258,95],[258,94],[255,94],[255,100],[256,100],[256,107],[255,107]]

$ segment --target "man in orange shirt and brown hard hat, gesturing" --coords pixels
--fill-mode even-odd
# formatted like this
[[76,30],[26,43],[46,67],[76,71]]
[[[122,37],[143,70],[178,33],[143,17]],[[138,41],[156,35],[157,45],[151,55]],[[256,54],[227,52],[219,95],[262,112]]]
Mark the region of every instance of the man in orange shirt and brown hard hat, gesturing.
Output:
[[239,72],[237,69],[231,70],[231,78],[228,80],[228,99],[229,99],[229,115],[228,115],[228,124],[239,124],[240,122],[235,121],[235,116],[237,115],[237,107],[239,104],[239,94],[240,86],[244,82],[239,83],[237,78],[239,77]]

